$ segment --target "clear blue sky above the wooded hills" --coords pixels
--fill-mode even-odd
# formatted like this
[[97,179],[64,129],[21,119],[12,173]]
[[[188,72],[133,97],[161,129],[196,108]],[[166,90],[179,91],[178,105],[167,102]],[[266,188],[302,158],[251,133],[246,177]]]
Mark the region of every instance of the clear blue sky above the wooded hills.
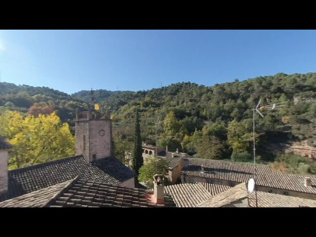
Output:
[[1,81],[82,89],[207,86],[316,72],[315,30],[0,30]]

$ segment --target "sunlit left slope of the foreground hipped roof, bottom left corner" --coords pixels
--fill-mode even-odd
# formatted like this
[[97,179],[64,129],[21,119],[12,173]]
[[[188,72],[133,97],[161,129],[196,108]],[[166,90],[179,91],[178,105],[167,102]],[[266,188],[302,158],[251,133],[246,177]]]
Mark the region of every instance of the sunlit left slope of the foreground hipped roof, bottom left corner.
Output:
[[68,180],[48,188],[0,202],[0,207],[44,207],[72,182],[73,180]]

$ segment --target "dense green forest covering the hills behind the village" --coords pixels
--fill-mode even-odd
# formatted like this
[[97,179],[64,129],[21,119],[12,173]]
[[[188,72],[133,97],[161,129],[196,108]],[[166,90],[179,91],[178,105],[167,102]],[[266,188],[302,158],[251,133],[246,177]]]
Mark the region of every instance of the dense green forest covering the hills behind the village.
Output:
[[[112,113],[115,140],[133,142],[138,109],[144,142],[155,145],[155,122],[167,120],[158,132],[159,146],[168,145],[171,151],[178,148],[200,158],[235,161],[251,160],[252,109],[258,101],[261,99],[262,105],[286,102],[281,110],[264,112],[264,118],[256,115],[258,160],[285,162],[282,168],[274,165],[280,171],[315,170],[313,160],[281,156],[269,147],[293,141],[307,141],[315,146],[316,73],[279,73],[214,86],[181,82],[137,92],[100,89],[94,91],[94,97],[101,112]],[[76,112],[91,108],[90,98],[89,90],[68,95],[47,87],[0,83],[0,113],[8,109],[36,116],[53,107],[72,131]],[[305,169],[293,168],[295,162],[291,160],[299,160]]]

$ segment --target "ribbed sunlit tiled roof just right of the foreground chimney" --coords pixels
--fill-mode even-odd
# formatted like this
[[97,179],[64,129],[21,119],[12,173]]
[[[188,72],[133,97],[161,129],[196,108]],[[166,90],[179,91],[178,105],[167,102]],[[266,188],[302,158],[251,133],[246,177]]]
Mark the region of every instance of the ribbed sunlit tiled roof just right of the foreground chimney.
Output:
[[177,207],[196,207],[212,197],[201,183],[169,185],[164,187],[164,192],[172,196]]

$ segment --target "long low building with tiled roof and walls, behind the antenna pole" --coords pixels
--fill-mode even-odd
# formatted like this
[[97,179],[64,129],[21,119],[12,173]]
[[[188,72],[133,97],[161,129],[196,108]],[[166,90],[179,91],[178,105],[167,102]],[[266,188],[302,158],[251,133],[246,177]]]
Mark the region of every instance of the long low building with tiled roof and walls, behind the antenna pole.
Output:
[[[274,172],[257,165],[257,191],[316,199],[316,176]],[[182,183],[210,183],[234,187],[254,177],[254,165],[223,160],[185,158]]]

